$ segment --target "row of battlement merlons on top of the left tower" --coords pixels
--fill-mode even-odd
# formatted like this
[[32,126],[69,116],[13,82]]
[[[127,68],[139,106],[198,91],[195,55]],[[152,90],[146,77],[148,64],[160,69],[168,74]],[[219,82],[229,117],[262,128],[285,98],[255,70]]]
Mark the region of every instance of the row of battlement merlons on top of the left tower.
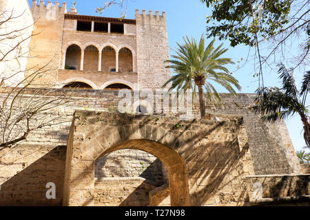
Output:
[[45,5],[45,2],[41,0],[38,5],[37,0],[32,0],[31,10],[32,14],[41,14],[42,12],[48,12],[50,10],[55,10],[61,14],[65,14],[67,12],[67,3],[63,2],[62,6],[60,6],[59,1],[55,1],[54,5],[52,4],[52,1],[48,1],[48,3]]

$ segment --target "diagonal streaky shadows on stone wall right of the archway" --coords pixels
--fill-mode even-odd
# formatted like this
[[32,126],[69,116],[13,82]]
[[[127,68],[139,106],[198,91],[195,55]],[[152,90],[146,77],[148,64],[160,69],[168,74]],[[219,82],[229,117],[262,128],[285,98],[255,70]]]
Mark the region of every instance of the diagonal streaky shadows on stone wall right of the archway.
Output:
[[[138,117],[135,118],[138,120]],[[121,127],[123,124],[130,124],[128,120],[132,118],[120,117],[114,121],[114,125]],[[149,120],[145,120],[139,126],[132,126],[132,129],[138,129],[150,123]],[[179,129],[181,132],[178,137],[183,138],[186,133],[187,144],[192,146],[178,151],[187,162],[192,205],[234,203],[242,206],[249,201],[247,184],[242,180],[244,175],[249,175],[244,172],[242,164],[248,146],[246,144],[240,150],[238,142],[242,120],[212,122],[212,126],[203,124],[201,126],[204,129],[198,128],[197,131],[194,128],[195,120],[187,122],[187,126],[180,128],[179,125],[182,123],[185,122],[178,121],[174,126],[169,126],[167,121],[156,121],[156,126],[163,129],[169,127],[168,135],[173,130]],[[121,136],[126,137],[127,133],[123,132],[119,129]],[[188,136],[189,133],[192,135]],[[158,142],[163,140],[165,135]]]

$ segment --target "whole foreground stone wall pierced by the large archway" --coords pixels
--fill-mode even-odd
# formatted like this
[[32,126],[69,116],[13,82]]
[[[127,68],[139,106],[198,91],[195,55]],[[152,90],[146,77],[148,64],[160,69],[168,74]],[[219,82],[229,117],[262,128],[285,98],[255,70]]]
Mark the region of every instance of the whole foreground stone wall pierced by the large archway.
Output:
[[[186,193],[183,190],[187,187],[183,185],[186,174],[189,203],[193,206],[242,206],[248,201],[242,177],[253,174],[254,170],[240,117],[223,115],[220,122],[180,121],[161,115],[77,111],[71,131],[68,148],[73,154],[68,154],[67,159],[72,158],[72,163],[66,170],[71,170],[74,177],[76,172],[93,172],[94,159],[105,152],[113,152],[114,146],[116,150],[132,148],[147,151],[167,165],[171,199],[178,198],[177,192]],[[132,140],[132,144],[127,140]],[[153,145],[148,145],[148,142],[153,142]],[[155,143],[164,146],[156,146]],[[184,166],[180,166],[181,162],[185,163]],[[178,177],[182,180],[176,179]],[[91,178],[88,181],[79,177],[67,178],[69,186],[72,186],[68,192],[68,205],[76,206],[86,201],[92,205],[92,192],[96,192],[96,187],[92,188]]]

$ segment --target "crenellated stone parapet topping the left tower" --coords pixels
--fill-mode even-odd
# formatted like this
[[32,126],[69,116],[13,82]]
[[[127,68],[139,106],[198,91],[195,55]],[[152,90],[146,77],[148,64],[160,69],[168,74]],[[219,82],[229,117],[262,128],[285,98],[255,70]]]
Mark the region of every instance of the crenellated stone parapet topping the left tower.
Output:
[[60,6],[59,1],[55,4],[52,1],[48,1],[47,4],[43,0],[39,1],[32,0],[32,15],[36,17],[45,17],[47,20],[56,20],[57,18],[63,16],[67,12],[67,3],[63,2]]

